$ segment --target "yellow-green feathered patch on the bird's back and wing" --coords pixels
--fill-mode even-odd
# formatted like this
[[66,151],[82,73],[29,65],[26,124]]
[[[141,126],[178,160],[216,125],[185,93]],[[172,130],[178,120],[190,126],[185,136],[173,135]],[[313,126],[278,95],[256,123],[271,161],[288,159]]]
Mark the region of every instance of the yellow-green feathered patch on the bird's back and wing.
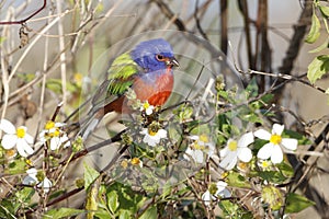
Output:
[[109,69],[107,95],[123,94],[133,84],[134,74],[138,71],[138,65],[129,53],[118,56]]

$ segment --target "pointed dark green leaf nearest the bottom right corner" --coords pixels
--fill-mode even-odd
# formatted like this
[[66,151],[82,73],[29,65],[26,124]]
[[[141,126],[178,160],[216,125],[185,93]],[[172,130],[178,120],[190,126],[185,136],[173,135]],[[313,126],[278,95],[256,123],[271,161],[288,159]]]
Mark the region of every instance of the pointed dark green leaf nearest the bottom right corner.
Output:
[[290,193],[286,197],[285,212],[299,212],[313,205],[315,205],[315,203],[307,199],[306,197],[295,193]]

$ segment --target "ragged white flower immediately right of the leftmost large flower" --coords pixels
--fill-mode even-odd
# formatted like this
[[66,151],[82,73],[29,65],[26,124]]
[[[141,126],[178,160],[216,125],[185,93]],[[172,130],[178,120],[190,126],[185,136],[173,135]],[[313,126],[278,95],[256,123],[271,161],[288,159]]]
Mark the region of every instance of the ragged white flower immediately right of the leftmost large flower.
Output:
[[48,139],[50,139],[52,150],[57,150],[63,143],[64,148],[69,147],[69,138],[67,137],[67,134],[60,129],[64,126],[65,124],[63,123],[55,123],[53,120],[48,120],[45,125],[45,129],[39,132],[41,141],[45,143]]

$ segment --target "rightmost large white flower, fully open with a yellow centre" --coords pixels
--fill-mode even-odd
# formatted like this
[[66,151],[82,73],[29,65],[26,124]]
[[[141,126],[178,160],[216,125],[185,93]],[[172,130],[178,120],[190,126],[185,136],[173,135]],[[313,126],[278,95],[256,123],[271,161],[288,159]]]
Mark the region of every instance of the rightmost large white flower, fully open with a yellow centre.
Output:
[[269,140],[270,142],[265,143],[259,151],[257,157],[262,160],[271,158],[271,161],[275,163],[281,163],[283,160],[282,149],[296,150],[298,141],[293,138],[282,138],[282,131],[284,125],[274,124],[272,128],[272,134],[264,129],[259,129],[254,131],[254,136]]

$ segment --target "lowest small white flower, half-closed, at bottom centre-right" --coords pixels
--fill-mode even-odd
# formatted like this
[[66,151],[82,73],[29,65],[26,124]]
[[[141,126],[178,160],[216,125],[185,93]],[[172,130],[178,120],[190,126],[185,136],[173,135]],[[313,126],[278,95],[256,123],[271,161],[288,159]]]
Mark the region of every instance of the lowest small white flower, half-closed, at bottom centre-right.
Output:
[[218,181],[216,184],[212,183],[209,188],[202,195],[204,204],[208,206],[212,200],[216,200],[218,197],[230,197],[230,192],[226,186],[227,183],[223,181]]

